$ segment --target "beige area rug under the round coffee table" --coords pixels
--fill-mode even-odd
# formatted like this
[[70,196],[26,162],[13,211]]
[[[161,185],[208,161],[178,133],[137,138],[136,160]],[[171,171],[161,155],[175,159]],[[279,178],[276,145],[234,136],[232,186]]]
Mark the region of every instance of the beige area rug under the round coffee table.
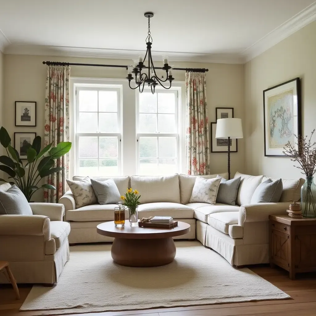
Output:
[[113,263],[109,244],[70,247],[58,284],[33,286],[20,310],[56,315],[290,298],[198,241],[175,244],[175,260],[154,268]]

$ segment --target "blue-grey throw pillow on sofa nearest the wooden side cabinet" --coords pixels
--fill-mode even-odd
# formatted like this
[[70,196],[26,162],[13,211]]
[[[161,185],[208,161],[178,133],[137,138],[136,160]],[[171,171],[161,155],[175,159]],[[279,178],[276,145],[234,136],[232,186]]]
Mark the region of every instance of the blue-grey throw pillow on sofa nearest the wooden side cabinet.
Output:
[[251,204],[277,203],[280,201],[283,191],[282,179],[272,181],[267,179],[260,183],[254,191]]

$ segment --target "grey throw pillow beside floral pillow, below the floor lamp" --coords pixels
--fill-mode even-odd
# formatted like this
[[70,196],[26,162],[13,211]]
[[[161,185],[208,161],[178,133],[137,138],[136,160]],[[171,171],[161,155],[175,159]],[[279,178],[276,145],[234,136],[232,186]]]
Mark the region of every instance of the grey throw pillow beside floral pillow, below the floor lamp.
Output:
[[[217,175],[217,178],[220,178]],[[235,205],[241,177],[226,180],[222,178],[218,188],[216,203]]]

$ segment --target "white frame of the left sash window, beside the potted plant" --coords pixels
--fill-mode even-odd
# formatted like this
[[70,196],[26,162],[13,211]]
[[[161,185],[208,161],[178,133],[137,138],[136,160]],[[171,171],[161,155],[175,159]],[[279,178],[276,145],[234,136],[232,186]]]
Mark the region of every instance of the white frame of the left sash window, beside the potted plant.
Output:
[[[95,91],[117,91],[118,95],[118,126],[119,131],[117,133],[101,133],[96,131],[95,133],[81,133],[77,132],[79,124],[79,91],[82,90],[95,90]],[[85,158],[85,159],[96,159],[98,160],[98,171],[99,171],[99,160],[107,159],[99,157],[99,137],[118,137],[118,174],[122,174],[122,104],[123,104],[123,87],[122,85],[113,84],[89,84],[89,83],[75,83],[74,84],[74,134],[75,134],[75,171],[74,174],[79,173],[79,137],[98,137],[98,158]],[[84,111],[82,111],[84,112]],[[92,113],[92,112],[89,112]],[[95,112],[94,112],[95,113]],[[113,113],[113,112],[99,112],[99,98],[98,98],[98,124],[99,124],[99,113]],[[110,157],[108,159],[111,159]],[[81,175],[81,174],[78,174]],[[99,176],[113,176],[113,174],[99,174]]]

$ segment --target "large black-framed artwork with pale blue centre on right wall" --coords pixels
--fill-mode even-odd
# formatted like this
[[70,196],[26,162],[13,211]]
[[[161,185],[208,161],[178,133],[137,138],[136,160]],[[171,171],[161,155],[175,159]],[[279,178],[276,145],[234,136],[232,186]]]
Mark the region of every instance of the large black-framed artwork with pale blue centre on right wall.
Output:
[[295,136],[301,135],[300,78],[263,91],[264,155],[287,157],[284,146],[290,142],[297,149]]

